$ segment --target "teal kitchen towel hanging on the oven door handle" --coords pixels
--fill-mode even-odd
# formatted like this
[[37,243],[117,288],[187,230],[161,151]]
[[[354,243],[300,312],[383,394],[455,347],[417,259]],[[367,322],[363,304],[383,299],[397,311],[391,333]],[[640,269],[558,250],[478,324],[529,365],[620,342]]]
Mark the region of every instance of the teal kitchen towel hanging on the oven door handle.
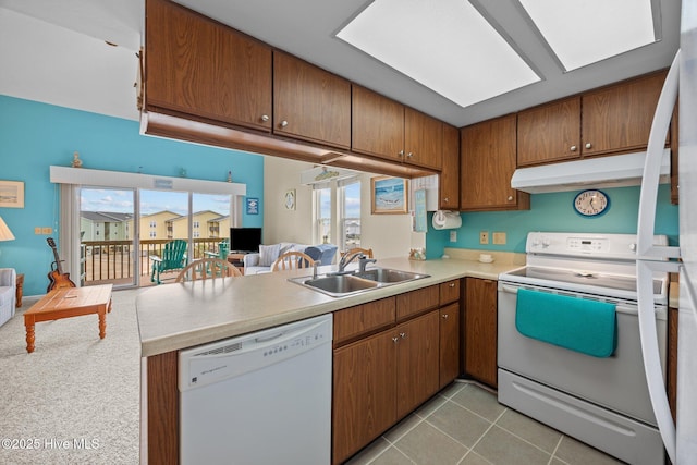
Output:
[[519,289],[515,328],[549,344],[609,357],[616,345],[614,314],[614,304]]

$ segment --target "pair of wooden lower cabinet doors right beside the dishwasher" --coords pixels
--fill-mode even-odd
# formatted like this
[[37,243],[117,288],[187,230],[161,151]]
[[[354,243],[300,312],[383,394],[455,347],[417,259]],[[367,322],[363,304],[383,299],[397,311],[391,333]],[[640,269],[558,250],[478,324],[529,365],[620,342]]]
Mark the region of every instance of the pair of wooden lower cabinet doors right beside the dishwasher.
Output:
[[438,392],[439,319],[433,310],[334,350],[332,463],[378,438]]

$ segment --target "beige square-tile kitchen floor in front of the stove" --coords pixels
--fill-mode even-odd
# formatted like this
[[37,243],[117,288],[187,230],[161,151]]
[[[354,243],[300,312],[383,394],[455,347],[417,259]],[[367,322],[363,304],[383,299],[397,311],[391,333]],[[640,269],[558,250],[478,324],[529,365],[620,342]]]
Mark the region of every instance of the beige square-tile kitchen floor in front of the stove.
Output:
[[595,465],[622,462],[455,382],[403,419],[348,465]]

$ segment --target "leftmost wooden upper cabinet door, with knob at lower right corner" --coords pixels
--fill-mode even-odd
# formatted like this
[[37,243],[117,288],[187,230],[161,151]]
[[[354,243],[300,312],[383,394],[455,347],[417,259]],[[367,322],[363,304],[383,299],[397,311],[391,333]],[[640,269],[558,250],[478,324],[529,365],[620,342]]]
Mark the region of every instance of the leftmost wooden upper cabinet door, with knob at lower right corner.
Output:
[[146,1],[146,109],[271,129],[271,48],[168,0]]

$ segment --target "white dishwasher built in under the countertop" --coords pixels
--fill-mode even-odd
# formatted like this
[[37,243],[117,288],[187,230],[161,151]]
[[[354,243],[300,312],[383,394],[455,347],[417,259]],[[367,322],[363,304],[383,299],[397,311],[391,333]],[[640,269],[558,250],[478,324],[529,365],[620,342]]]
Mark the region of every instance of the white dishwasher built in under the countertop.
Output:
[[183,464],[331,462],[332,316],[180,351]]

